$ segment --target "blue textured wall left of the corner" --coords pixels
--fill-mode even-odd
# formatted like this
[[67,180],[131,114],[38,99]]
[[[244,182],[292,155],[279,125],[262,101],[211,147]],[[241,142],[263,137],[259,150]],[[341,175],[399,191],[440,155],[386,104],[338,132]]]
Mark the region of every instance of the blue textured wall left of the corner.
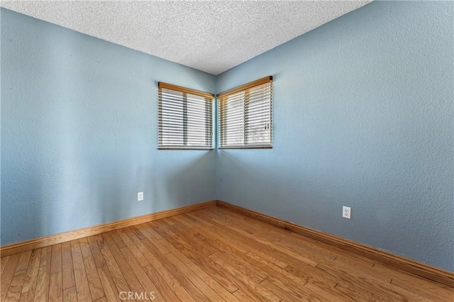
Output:
[[215,77],[1,9],[1,245],[216,197],[216,152],[157,150],[158,81]]

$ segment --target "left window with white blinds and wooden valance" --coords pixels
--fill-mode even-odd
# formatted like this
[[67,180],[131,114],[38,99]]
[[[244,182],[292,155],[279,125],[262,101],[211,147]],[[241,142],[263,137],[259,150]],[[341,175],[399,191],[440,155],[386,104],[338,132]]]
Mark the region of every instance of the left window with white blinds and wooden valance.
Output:
[[213,149],[214,95],[159,82],[158,149]]

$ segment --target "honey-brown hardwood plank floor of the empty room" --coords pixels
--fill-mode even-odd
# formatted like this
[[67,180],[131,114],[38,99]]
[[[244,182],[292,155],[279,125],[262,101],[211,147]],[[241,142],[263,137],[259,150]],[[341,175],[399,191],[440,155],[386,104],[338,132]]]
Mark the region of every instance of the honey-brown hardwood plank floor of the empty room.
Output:
[[454,289],[213,206],[1,258],[3,301],[450,301]]

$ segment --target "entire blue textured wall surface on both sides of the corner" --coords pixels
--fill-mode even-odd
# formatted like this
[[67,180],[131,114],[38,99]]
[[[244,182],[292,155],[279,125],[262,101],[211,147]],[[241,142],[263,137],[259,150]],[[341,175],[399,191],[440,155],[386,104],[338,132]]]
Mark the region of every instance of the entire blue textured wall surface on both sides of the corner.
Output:
[[[1,245],[218,198],[454,271],[453,6],[373,2],[218,77],[1,9]],[[157,81],[266,75],[272,150],[157,150]]]

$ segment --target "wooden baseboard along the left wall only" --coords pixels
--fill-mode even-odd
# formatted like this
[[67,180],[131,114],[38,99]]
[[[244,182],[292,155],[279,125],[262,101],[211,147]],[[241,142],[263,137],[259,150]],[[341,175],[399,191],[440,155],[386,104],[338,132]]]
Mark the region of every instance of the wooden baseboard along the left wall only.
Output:
[[119,228],[127,228],[131,225],[138,225],[140,223],[147,223],[153,220],[188,213],[200,210],[202,208],[208,208],[210,206],[216,206],[216,201],[196,203],[190,206],[182,206],[180,208],[173,208],[171,210],[150,213],[147,215],[127,218],[123,220],[114,221],[111,223],[104,223],[102,225],[94,225],[88,228],[70,230],[68,232],[58,233],[55,235],[49,235],[31,240],[11,243],[9,245],[3,245],[0,247],[0,255],[1,257],[4,257],[8,255],[17,254],[19,252],[26,252],[28,250],[34,250],[40,247],[47,247],[48,245],[56,245],[58,243],[76,240],[87,236],[97,235],[104,232],[109,232],[111,230],[117,230]]

